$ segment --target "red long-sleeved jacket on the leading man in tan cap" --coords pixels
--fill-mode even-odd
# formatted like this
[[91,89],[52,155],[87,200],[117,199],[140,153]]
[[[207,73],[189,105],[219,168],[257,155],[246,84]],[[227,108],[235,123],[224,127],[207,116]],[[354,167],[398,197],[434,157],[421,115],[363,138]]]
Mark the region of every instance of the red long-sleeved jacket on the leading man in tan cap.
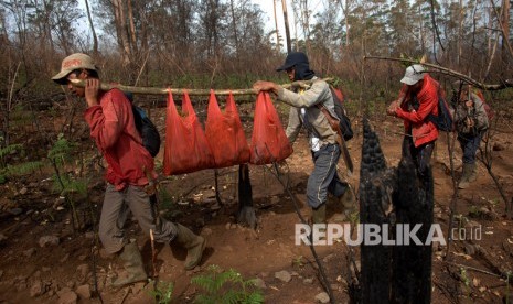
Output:
[[90,137],[107,161],[105,180],[116,189],[127,184],[147,185],[146,172],[157,176],[153,158],[142,145],[131,104],[122,91],[100,93],[99,105],[87,108],[84,118],[90,127]]

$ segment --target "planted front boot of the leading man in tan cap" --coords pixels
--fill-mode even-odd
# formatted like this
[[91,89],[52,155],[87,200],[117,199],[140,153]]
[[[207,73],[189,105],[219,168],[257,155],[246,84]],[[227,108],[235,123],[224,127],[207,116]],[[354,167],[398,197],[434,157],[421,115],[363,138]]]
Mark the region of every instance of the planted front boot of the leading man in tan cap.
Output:
[[114,287],[121,287],[127,284],[146,281],[145,267],[142,265],[141,253],[136,242],[125,245],[119,258],[125,262],[124,268],[127,271],[127,275],[124,278],[117,278],[113,282]]

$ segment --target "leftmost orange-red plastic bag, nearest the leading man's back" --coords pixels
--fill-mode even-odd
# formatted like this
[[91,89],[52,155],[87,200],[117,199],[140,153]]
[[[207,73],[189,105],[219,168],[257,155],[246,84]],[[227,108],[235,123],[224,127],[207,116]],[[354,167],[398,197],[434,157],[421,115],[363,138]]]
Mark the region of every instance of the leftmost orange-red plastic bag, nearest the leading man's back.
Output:
[[213,167],[209,143],[189,98],[183,94],[182,112],[178,113],[173,96],[168,97],[165,118],[164,174],[174,175]]

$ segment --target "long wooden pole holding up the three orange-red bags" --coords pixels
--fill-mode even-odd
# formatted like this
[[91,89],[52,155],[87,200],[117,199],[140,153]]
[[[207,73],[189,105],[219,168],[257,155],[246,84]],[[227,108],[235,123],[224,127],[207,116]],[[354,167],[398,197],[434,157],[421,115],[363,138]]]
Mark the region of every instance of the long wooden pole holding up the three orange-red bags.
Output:
[[[333,78],[322,78],[327,83],[333,82]],[[74,86],[77,87],[85,87],[85,82],[79,79],[70,80]],[[291,84],[280,85],[284,88],[290,87],[304,87],[312,84],[314,80],[301,80],[301,82],[293,82]],[[154,88],[154,87],[133,87],[133,86],[125,86],[119,84],[100,84],[101,90],[109,90],[113,88],[118,88],[122,91],[129,91],[132,94],[142,94],[142,95],[168,95],[169,93],[173,95],[182,95],[185,91],[189,95],[195,96],[209,96],[211,94],[211,89],[185,89],[185,88]],[[213,90],[215,95],[256,95],[257,91],[253,88],[250,89],[215,89]]]

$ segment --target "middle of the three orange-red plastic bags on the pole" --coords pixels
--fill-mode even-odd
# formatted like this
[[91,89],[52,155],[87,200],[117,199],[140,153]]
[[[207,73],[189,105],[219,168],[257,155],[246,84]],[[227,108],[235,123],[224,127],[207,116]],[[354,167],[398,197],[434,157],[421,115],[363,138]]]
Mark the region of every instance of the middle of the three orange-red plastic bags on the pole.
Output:
[[247,145],[246,135],[232,94],[228,95],[225,111],[222,113],[214,91],[211,91],[205,134],[214,155],[215,167],[249,162],[249,145]]

